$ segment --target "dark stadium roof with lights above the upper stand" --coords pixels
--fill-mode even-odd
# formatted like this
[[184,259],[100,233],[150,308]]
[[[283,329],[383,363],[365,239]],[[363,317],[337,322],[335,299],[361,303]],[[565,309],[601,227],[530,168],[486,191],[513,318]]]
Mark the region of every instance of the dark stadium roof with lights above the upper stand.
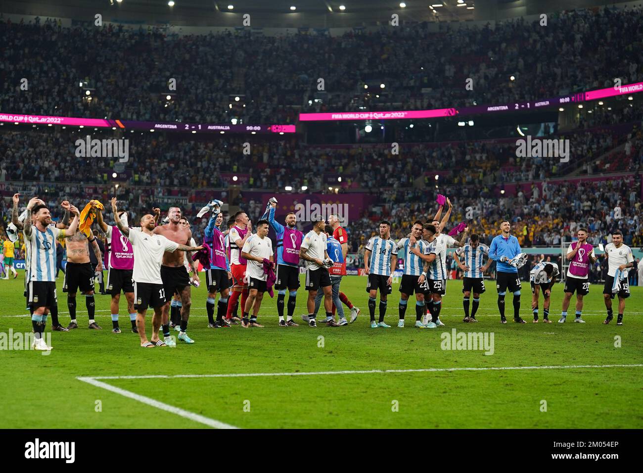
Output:
[[[173,3],[172,6],[168,3]],[[599,0],[5,0],[5,14],[39,15],[132,24],[339,28],[423,21],[495,21],[521,15],[613,5]],[[631,1],[629,3],[632,3]],[[404,6],[402,6],[404,5]],[[233,8],[230,8],[232,6]],[[340,8],[343,6],[343,10]],[[293,10],[294,7],[294,10]]]

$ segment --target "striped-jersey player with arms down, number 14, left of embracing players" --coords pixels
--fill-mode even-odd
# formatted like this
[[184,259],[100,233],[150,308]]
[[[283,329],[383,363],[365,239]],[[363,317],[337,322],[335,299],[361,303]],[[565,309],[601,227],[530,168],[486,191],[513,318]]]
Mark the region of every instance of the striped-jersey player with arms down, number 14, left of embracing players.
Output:
[[[391,239],[391,224],[383,220],[379,223],[379,237],[371,237],[364,252],[364,269],[368,275],[368,311],[370,328],[390,328],[384,322],[386,298],[392,292],[393,272],[397,263],[397,243]],[[375,298],[379,289],[379,322],[375,322]]]

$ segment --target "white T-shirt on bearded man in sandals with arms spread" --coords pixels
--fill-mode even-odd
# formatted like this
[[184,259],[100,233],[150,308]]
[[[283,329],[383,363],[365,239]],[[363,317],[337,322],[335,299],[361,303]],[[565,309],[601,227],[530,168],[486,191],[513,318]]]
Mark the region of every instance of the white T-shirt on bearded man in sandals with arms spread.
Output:
[[135,283],[163,284],[161,279],[161,261],[163,253],[174,252],[179,244],[163,235],[148,235],[140,227],[129,229],[129,241],[134,248],[134,272],[132,281]]

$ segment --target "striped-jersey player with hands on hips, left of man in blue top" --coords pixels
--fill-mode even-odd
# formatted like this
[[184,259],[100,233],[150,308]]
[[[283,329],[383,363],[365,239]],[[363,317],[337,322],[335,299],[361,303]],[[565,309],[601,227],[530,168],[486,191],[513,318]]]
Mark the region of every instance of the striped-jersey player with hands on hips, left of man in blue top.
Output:
[[[478,304],[480,304],[480,294],[485,292],[484,273],[489,269],[489,264],[492,261],[489,259],[489,246],[480,243],[480,237],[474,233],[469,237],[469,243],[460,246],[455,250],[455,254],[456,263],[464,271],[464,278],[462,279],[464,319],[462,321],[478,322],[476,320],[476,311],[478,311]],[[487,255],[487,264],[483,266],[482,259],[484,255]],[[464,263],[460,261],[462,256],[464,256]],[[473,290],[473,306],[471,307],[471,316],[469,316],[471,290]]]

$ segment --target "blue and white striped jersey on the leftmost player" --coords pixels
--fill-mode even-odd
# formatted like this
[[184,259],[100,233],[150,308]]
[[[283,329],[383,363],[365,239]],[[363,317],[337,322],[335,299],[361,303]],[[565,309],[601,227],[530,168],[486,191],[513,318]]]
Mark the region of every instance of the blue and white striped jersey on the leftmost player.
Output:
[[24,234],[25,248],[29,252],[28,275],[30,281],[56,281],[56,240],[64,239],[65,231],[50,225],[44,232],[32,225],[32,234]]

